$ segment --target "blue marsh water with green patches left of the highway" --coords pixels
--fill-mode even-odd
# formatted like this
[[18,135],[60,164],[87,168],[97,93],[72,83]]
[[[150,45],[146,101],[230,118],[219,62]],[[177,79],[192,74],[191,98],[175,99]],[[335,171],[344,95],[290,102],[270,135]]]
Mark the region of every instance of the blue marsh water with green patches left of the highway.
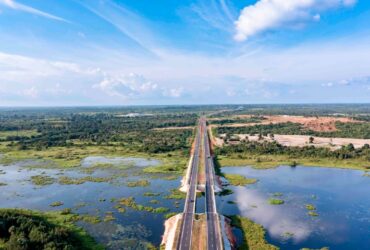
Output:
[[[94,169],[86,171],[96,164],[120,165],[117,169]],[[182,200],[165,199],[171,189],[177,188],[180,178],[169,175],[148,175],[142,169],[160,164],[158,160],[141,158],[105,158],[88,157],[81,167],[74,170],[42,168],[43,162],[23,161],[8,166],[0,165],[0,207],[26,208],[37,210],[61,210],[72,208],[78,214],[88,214],[104,218],[107,212],[113,212],[115,220],[91,224],[79,222],[98,242],[110,249],[143,249],[146,242],[159,246],[164,232],[164,213],[151,213],[126,208],[119,213],[116,199],[135,197],[137,204],[151,207],[167,207],[169,212],[183,210]],[[40,168],[35,168],[35,165]],[[32,168],[29,168],[32,166]],[[85,176],[114,177],[111,181],[85,182],[80,185],[62,185],[57,181],[50,185],[37,186],[31,176],[43,175],[55,178],[61,176],[81,178]],[[172,178],[169,178],[172,177]],[[148,180],[149,186],[128,187],[129,181]],[[171,179],[171,180],[169,180]],[[145,192],[159,194],[155,197],[144,196]],[[150,201],[156,200],[153,204]],[[53,202],[61,201],[62,206],[51,207]]]

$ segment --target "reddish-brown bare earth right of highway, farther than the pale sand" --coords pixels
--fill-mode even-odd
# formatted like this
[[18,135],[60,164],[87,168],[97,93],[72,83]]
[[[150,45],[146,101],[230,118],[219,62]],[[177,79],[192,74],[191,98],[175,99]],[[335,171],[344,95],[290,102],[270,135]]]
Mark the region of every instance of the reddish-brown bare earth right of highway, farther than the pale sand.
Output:
[[[248,118],[250,115],[240,115],[237,116],[240,118]],[[255,126],[259,124],[277,124],[277,123],[299,123],[302,124],[305,128],[311,129],[318,132],[331,132],[336,131],[335,123],[356,123],[360,121],[353,120],[352,118],[347,117],[305,117],[305,116],[289,116],[289,115],[273,115],[273,116],[264,116],[266,119],[262,120],[260,123],[234,123],[228,124],[228,127],[245,127],[245,126]],[[215,126],[215,125],[213,125]],[[224,125],[226,126],[226,125]]]

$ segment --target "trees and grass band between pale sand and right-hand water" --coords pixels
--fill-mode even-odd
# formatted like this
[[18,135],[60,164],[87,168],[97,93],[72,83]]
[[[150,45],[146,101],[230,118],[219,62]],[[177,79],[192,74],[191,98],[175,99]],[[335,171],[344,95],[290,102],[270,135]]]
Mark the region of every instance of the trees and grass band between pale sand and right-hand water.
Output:
[[343,148],[331,151],[327,148],[286,147],[276,142],[246,142],[216,148],[217,160],[222,166],[273,168],[279,165],[324,166],[366,170],[370,167],[370,149]]

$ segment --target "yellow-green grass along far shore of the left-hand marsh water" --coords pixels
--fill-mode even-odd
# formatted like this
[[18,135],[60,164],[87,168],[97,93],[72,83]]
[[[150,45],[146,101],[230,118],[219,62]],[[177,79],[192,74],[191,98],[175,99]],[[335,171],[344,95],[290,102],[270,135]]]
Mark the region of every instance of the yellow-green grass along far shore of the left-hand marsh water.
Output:
[[[50,164],[42,166],[43,168],[75,168],[81,166],[81,160],[88,156],[106,156],[106,157],[137,157],[157,159],[162,162],[159,166],[147,167],[146,173],[173,173],[181,175],[187,166],[188,157],[178,151],[168,153],[148,154],[130,150],[122,146],[98,146],[98,145],[74,145],[70,147],[50,147],[43,150],[18,150],[16,147],[8,147],[8,142],[0,142],[0,152],[3,157],[0,158],[0,164],[10,165],[12,163],[27,159],[49,160]],[[125,169],[130,166],[96,164],[88,169],[97,168],[117,168]]]

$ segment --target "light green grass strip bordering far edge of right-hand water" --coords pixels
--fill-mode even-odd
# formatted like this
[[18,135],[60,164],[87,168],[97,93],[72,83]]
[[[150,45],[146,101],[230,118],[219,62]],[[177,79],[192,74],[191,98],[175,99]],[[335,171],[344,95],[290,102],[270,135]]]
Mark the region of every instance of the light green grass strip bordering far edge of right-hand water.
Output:
[[332,159],[332,158],[292,158],[286,155],[254,155],[245,153],[241,157],[237,154],[230,156],[218,156],[223,167],[227,166],[252,166],[257,169],[275,168],[277,166],[317,166],[329,168],[343,168],[354,170],[366,170],[370,162],[366,159]]

